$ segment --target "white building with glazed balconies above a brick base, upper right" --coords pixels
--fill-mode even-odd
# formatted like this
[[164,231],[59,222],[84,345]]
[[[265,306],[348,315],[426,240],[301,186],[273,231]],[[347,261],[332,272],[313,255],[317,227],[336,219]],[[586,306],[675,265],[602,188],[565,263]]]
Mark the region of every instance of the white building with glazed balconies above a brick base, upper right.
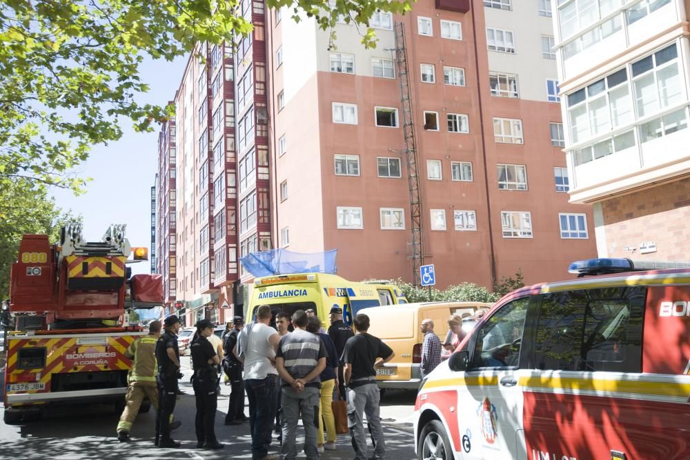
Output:
[[687,260],[688,3],[559,1],[554,13],[571,202],[601,257]]

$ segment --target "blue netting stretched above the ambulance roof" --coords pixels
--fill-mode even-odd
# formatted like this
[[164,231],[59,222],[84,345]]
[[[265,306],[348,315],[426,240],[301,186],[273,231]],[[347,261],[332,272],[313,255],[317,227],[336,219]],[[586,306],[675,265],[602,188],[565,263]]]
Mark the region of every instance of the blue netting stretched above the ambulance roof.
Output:
[[273,274],[288,273],[334,273],[337,249],[306,254],[284,249],[253,252],[239,261],[245,270],[254,277],[268,277]]

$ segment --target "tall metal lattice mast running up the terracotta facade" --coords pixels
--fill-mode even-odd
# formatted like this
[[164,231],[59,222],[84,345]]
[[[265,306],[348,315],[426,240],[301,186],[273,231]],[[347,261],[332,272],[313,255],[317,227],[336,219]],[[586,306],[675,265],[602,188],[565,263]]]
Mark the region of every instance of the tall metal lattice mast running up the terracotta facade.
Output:
[[420,285],[420,267],[424,264],[424,238],[422,235],[422,190],[420,188],[419,155],[415,141],[415,117],[412,111],[410,74],[407,66],[405,31],[402,22],[395,23],[395,63],[400,82],[402,102],[402,130],[405,137],[405,157],[407,159],[407,183],[410,188],[410,220],[412,227],[411,255],[412,279],[415,286]]

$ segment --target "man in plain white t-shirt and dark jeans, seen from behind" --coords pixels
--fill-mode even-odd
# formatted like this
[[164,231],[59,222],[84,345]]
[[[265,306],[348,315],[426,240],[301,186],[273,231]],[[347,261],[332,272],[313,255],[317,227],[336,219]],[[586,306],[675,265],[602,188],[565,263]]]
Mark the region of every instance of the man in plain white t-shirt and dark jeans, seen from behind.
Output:
[[[268,326],[270,317],[270,306],[259,306],[257,322],[244,328],[237,337],[239,349],[244,353],[244,386],[249,400],[253,460],[279,459],[277,455],[268,455],[279,389],[275,370],[279,335]],[[237,348],[233,350],[236,355],[240,354]],[[237,357],[242,360],[241,356]]]

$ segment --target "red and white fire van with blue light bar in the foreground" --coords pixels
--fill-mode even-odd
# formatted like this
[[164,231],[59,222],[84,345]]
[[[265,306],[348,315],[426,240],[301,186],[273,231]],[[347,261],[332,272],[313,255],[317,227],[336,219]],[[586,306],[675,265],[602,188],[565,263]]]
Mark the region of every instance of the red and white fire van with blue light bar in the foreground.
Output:
[[690,459],[690,264],[570,271],[506,295],[422,382],[420,459]]

